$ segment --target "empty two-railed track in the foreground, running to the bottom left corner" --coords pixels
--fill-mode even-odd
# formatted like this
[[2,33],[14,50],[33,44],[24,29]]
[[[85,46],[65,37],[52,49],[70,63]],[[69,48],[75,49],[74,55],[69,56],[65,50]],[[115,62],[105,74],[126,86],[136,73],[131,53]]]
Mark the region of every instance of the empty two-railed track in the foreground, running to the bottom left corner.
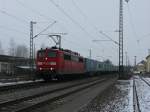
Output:
[[69,86],[55,88],[52,90],[41,91],[40,93],[30,94],[20,98],[0,102],[1,112],[27,112],[33,108],[54,102],[78,91],[84,90],[107,79],[95,79],[91,81],[80,82]]

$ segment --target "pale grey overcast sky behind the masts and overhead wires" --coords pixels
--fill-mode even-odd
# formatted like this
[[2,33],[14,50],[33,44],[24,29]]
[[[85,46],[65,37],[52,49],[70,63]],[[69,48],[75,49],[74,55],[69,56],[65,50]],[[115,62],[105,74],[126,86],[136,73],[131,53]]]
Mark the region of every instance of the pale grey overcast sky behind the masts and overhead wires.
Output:
[[[29,47],[29,22],[36,21],[34,34],[57,21],[45,33],[64,32],[62,47],[92,58],[109,58],[118,64],[118,46],[112,42],[92,42],[94,39],[107,40],[99,33],[105,32],[118,41],[119,0],[0,0],[0,41],[8,52],[10,39],[17,44]],[[60,11],[59,8],[63,11]],[[148,55],[150,48],[150,10],[149,0],[130,0],[124,2],[124,51],[128,52],[130,63],[134,56],[137,61]],[[139,40],[139,41],[138,41]],[[46,36],[34,40],[36,49],[42,44],[54,45]],[[124,61],[125,62],[125,61]]]

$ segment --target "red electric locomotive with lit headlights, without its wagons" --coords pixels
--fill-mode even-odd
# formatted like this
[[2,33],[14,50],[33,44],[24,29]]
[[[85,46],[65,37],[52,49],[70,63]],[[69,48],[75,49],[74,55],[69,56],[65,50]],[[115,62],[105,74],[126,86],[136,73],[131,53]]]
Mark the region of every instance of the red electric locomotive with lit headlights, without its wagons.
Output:
[[84,58],[76,52],[56,47],[37,52],[37,75],[44,80],[73,77],[85,72]]

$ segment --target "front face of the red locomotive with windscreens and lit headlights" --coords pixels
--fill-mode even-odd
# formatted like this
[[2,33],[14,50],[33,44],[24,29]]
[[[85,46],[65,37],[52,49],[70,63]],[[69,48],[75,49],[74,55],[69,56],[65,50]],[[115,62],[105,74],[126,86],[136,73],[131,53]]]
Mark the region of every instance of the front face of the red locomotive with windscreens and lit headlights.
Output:
[[36,70],[38,77],[45,80],[52,79],[57,74],[58,51],[53,49],[41,49],[37,52]]

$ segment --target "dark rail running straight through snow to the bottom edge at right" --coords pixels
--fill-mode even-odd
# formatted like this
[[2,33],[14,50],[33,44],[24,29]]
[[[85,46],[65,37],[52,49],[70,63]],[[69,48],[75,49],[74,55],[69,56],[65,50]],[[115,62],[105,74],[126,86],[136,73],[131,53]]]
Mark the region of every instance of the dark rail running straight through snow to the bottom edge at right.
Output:
[[141,112],[134,78],[133,78],[133,108],[134,112]]

